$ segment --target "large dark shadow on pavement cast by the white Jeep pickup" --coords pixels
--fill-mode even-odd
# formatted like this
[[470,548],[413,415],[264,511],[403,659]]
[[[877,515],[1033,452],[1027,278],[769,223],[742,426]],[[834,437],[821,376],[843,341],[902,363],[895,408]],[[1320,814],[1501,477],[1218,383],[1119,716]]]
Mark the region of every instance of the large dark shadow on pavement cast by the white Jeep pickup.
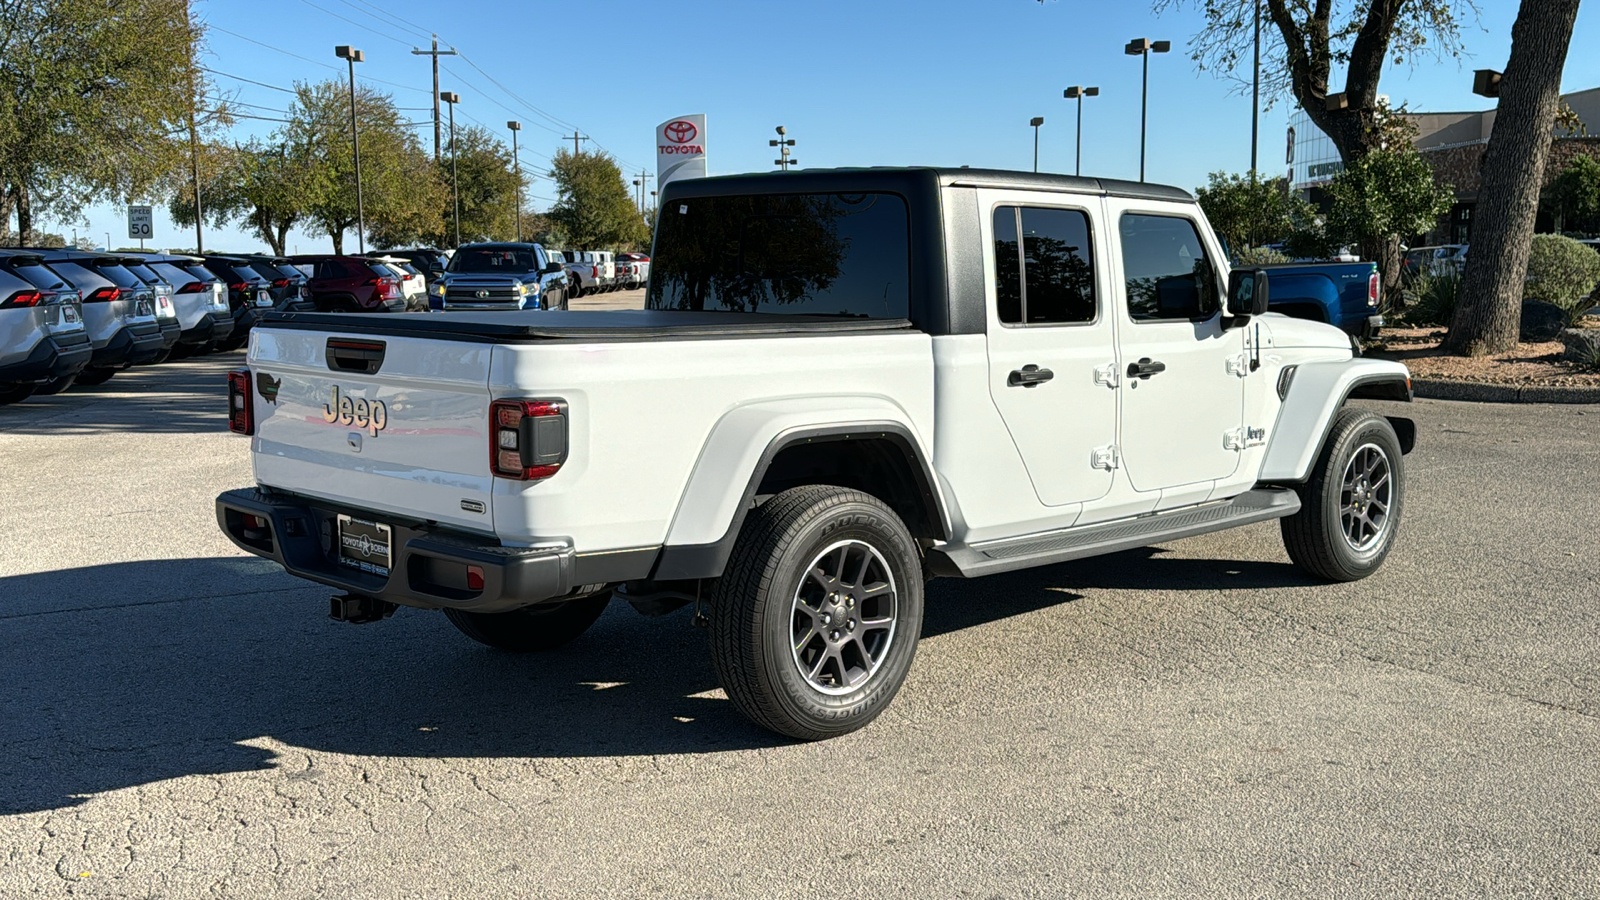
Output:
[[[1134,551],[934,581],[923,637],[1082,599],[1069,588],[1302,583],[1286,564]],[[982,602],[960,602],[979,586]],[[326,596],[243,557],[0,578],[0,815],[168,778],[306,765],[293,748],[483,759],[790,743],[726,701],[686,609],[646,620],[618,602],[568,647],[512,655],[434,612],[338,625],[323,618]]]

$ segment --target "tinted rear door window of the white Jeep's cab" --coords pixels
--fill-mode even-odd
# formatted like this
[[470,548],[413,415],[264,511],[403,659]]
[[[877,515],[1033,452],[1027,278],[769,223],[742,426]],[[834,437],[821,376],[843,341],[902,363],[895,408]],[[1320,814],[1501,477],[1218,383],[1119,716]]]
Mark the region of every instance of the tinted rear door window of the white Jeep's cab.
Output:
[[995,296],[1000,322],[1006,325],[1093,322],[1098,307],[1088,215],[1042,207],[997,208]]

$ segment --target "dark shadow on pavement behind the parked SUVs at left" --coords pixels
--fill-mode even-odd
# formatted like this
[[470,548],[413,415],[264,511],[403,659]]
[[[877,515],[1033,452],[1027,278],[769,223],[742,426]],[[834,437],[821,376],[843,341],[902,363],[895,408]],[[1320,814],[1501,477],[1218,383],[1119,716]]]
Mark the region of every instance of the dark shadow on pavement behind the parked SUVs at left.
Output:
[[0,407],[0,434],[222,434],[227,370],[243,362],[219,352],[125,368],[104,384]]

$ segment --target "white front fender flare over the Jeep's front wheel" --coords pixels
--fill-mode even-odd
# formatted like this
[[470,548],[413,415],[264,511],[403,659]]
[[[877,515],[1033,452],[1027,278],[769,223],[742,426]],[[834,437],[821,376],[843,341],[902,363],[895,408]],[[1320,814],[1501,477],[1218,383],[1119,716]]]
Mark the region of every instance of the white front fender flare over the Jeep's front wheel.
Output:
[[[1285,368],[1278,384],[1280,389],[1286,388],[1286,394],[1261,463],[1258,479],[1262,482],[1294,484],[1310,477],[1310,468],[1346,400],[1411,400],[1411,373],[1398,362],[1317,360]],[[1410,453],[1416,444],[1416,424],[1406,418],[1390,418],[1390,424],[1400,436],[1402,450]]]

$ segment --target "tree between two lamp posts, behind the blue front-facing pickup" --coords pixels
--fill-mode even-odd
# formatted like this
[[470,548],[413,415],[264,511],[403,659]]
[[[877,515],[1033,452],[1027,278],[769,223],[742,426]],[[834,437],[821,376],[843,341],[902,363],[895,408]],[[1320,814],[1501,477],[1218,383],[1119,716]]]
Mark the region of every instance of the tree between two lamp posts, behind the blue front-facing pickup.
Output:
[[[518,184],[510,147],[477,125],[458,128],[454,144],[456,178],[461,179],[461,242],[515,239]],[[445,189],[442,227],[437,234],[427,235],[437,247],[456,245],[450,154],[451,146],[446,143],[438,163],[438,178]],[[526,229],[523,237],[528,237]]]

